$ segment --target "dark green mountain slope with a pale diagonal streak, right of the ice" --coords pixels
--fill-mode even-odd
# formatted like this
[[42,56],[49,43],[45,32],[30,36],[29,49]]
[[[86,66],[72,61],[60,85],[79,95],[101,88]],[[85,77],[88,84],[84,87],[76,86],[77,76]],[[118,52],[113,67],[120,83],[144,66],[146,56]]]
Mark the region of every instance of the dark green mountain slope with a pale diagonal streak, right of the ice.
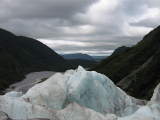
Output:
[[107,75],[129,94],[150,98],[160,82],[160,27],[147,34],[137,45],[112,54],[93,68]]

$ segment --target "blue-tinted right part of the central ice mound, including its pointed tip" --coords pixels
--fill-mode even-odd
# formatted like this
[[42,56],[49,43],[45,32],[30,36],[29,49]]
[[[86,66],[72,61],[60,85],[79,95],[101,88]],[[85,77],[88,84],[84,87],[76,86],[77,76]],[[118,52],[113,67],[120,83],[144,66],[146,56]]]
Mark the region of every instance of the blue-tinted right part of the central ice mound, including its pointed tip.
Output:
[[[85,71],[82,67],[66,81],[68,101],[91,108],[106,114],[114,113],[119,116],[125,109],[134,112],[134,100],[117,88],[106,76]],[[116,98],[116,99],[115,99]]]

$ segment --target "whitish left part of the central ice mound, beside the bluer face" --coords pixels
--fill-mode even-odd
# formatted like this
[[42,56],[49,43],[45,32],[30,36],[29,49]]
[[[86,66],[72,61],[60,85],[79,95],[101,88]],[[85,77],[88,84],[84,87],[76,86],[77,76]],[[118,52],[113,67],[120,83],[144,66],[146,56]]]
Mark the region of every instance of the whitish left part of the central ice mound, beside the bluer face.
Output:
[[29,89],[22,98],[35,105],[46,106],[51,109],[62,109],[67,97],[65,81],[72,72],[68,71],[65,74],[57,73],[53,75],[48,80]]

